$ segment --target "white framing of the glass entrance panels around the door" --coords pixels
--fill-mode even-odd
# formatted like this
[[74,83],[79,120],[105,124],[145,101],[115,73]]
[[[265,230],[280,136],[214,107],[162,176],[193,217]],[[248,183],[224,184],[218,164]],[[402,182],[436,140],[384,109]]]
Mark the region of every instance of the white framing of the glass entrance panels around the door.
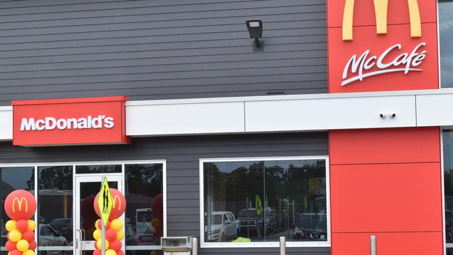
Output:
[[[36,199],[36,205],[39,204],[39,197],[38,197],[38,167],[72,167],[72,189],[75,188],[75,177],[76,176],[93,176],[92,173],[75,173],[75,169],[77,166],[81,165],[103,165],[103,164],[120,164],[121,165],[121,173],[112,173],[116,175],[121,175],[122,182],[125,184],[125,165],[126,164],[162,164],[162,193],[163,193],[163,210],[164,210],[164,230],[163,235],[167,236],[167,160],[114,160],[114,161],[69,161],[69,162],[31,162],[31,163],[0,163],[0,169],[3,167],[33,167],[34,168],[34,193]],[[75,196],[72,196],[72,204],[75,204]],[[36,212],[34,218],[38,218],[38,208],[36,208]],[[75,210],[72,209],[72,219],[75,219]],[[75,221],[72,221],[73,229],[75,229]],[[38,240],[38,231],[35,231],[35,240]],[[73,231],[73,240],[75,240],[75,231]],[[124,239],[125,241],[125,239]],[[125,253],[128,251],[154,251],[154,250],[162,250],[162,246],[160,245],[124,245],[123,248]],[[75,250],[74,245],[72,246],[37,246],[36,253],[40,251],[73,251]],[[6,252],[6,248],[4,246],[0,246],[0,252]]]

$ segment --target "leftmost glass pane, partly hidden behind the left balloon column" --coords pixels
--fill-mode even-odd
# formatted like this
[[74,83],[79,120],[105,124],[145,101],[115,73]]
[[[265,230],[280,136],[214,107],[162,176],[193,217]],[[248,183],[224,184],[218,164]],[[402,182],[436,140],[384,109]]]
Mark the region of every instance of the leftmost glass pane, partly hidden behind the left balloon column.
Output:
[[[34,167],[1,167],[0,168],[0,196],[1,196],[1,236],[6,236],[5,223],[10,220],[4,210],[4,201],[14,190],[29,190],[34,195],[35,187]],[[4,247],[6,238],[1,238]]]

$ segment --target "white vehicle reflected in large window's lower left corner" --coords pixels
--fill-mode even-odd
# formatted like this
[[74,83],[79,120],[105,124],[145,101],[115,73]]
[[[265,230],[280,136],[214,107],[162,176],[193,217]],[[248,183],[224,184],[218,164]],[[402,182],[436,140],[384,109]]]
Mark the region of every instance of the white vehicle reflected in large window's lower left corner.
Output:
[[[233,212],[213,212],[205,226],[206,240],[209,242],[225,242],[234,240],[240,235],[240,222]],[[210,224],[208,223],[210,222]]]

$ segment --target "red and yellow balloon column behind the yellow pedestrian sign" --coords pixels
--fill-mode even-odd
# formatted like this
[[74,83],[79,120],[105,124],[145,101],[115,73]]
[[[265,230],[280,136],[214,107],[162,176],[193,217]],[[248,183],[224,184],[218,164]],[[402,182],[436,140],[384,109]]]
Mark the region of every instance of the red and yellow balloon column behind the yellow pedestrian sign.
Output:
[[[107,226],[105,227],[105,255],[124,255],[123,250],[121,249],[122,243],[121,240],[124,238],[123,226],[124,223],[119,217],[123,215],[126,208],[126,199],[116,189],[110,188],[110,194],[112,194],[113,204],[112,212],[110,212],[109,220]],[[100,216],[98,208],[98,198],[99,193],[95,196],[93,201],[93,206],[96,214]],[[102,249],[102,219],[98,219],[95,222],[96,230],[93,232],[93,238],[95,239],[95,250],[93,255],[101,255]]]

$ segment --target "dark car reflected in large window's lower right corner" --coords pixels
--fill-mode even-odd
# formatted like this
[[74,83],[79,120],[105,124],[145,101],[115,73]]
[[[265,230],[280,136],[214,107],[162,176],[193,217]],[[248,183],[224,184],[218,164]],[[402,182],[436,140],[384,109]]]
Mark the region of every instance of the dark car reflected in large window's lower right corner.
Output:
[[295,240],[327,240],[327,214],[301,213],[295,221]]

